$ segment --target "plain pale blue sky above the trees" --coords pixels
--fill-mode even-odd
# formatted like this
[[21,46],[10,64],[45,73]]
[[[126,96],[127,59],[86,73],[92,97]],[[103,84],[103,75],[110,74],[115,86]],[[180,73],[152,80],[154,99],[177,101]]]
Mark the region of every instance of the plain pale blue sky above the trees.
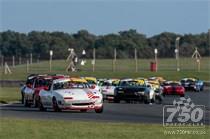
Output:
[[0,0],[0,31],[207,32],[209,0]]

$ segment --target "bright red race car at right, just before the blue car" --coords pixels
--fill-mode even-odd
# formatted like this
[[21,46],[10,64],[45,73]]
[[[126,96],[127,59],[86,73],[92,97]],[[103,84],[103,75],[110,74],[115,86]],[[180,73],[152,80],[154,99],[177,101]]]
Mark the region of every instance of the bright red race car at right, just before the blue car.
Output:
[[179,95],[184,97],[185,89],[180,82],[166,81],[163,83],[163,96],[166,95]]

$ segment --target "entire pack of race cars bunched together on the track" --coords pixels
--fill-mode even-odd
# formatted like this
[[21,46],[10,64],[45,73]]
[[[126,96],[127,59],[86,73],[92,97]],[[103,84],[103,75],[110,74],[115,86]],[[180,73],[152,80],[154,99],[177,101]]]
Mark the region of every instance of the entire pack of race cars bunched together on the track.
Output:
[[27,77],[21,87],[22,103],[26,107],[39,107],[44,111],[95,110],[103,112],[103,102],[162,103],[166,95],[184,97],[185,90],[202,91],[203,81],[183,78],[180,82],[166,81],[162,77],[136,79],[96,79],[65,75],[37,75]]

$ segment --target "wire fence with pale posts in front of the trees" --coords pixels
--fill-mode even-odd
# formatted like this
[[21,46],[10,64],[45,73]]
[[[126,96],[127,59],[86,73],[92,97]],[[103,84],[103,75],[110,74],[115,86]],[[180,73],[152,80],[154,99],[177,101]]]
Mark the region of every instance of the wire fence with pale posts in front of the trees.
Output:
[[[134,58],[130,59],[118,59],[117,52],[113,52],[113,58],[111,59],[98,59],[97,53],[94,54],[93,58],[87,59],[84,56],[79,59],[77,68],[80,71],[107,71],[107,72],[139,72],[139,71],[177,71],[179,68],[181,71],[208,71],[209,70],[209,57],[202,58],[200,63],[191,57],[180,57],[179,65],[177,65],[177,59],[174,58],[158,58],[155,59],[139,59],[136,54]],[[65,57],[64,57],[65,58]],[[84,65],[81,65],[81,61],[86,61]],[[5,71],[6,65],[13,71],[16,69],[25,70],[25,72],[65,72],[68,65],[65,59],[53,59],[50,62],[49,59],[41,59],[40,57],[3,57],[1,56],[0,70]],[[51,63],[51,64],[50,64]],[[156,67],[154,69],[154,65]]]

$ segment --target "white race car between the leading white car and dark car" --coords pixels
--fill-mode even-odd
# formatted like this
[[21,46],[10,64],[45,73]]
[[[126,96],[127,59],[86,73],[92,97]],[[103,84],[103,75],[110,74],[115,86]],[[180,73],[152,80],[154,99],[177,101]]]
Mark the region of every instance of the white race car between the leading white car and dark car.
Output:
[[119,79],[109,79],[104,81],[100,86],[100,91],[103,94],[103,100],[113,100],[114,90],[118,85]]

